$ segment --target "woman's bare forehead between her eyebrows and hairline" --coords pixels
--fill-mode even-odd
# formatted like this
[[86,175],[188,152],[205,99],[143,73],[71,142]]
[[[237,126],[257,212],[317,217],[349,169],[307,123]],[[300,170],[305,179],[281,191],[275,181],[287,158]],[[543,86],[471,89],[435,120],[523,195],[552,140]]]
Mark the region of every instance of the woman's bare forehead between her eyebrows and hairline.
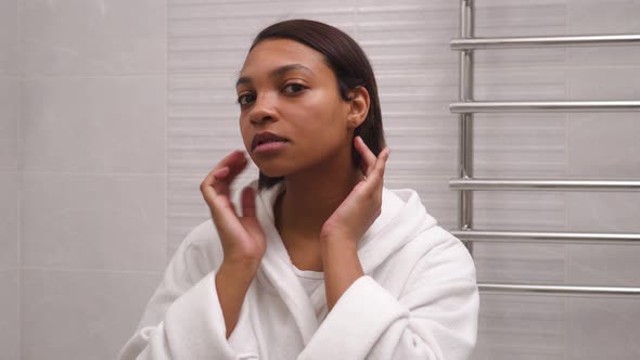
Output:
[[324,56],[310,47],[289,39],[268,39],[259,42],[247,54],[240,74],[252,77],[294,63],[313,73],[331,72]]

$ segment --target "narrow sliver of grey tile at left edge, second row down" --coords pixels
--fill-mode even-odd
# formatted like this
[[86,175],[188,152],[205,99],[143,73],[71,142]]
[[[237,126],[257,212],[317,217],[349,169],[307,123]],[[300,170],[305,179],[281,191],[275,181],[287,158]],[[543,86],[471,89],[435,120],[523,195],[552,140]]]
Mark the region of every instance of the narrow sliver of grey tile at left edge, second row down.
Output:
[[20,169],[20,77],[0,76],[0,171],[18,171]]

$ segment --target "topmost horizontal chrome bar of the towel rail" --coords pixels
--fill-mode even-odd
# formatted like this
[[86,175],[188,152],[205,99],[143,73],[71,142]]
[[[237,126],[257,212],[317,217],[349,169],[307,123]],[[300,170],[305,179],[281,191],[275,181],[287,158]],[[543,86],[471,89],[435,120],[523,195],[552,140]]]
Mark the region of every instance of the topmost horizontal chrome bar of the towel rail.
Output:
[[451,50],[522,49],[548,47],[627,46],[640,43],[640,34],[536,36],[451,39]]

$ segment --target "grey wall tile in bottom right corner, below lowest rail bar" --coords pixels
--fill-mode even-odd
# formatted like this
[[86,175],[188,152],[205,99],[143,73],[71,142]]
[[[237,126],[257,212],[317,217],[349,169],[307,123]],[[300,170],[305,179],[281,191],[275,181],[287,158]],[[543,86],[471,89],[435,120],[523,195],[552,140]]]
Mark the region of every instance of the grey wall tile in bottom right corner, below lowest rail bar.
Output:
[[640,306],[635,298],[571,298],[567,360],[640,358]]

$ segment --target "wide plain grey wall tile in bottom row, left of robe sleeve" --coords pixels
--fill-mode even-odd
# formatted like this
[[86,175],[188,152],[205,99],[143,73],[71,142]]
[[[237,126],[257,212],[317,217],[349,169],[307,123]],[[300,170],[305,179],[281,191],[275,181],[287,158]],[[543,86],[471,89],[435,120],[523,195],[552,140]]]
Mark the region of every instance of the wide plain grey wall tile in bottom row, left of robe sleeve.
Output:
[[115,359],[159,273],[23,270],[23,359]]

